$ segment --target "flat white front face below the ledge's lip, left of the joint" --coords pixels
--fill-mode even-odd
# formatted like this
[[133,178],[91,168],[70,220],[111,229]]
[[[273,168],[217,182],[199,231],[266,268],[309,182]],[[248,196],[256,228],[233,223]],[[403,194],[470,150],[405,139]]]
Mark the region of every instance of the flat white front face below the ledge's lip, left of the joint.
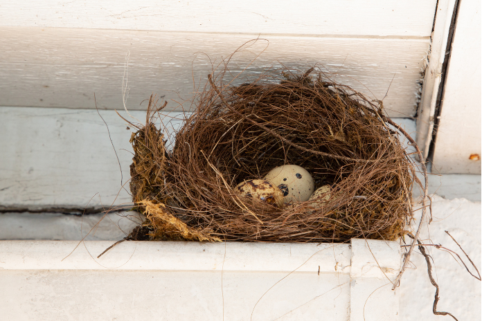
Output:
[[[346,321],[349,276],[149,270],[3,270],[0,313],[31,320]],[[261,300],[260,300],[261,299]],[[256,305],[257,301],[260,302]],[[252,315],[252,317],[251,317]],[[388,321],[388,320],[387,320]]]

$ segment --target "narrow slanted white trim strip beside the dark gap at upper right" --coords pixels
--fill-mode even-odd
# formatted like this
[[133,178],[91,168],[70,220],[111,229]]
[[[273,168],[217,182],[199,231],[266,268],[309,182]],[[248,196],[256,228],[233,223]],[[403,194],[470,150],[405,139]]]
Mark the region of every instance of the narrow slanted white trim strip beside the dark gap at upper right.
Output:
[[[428,66],[425,68],[422,93],[418,107],[417,145],[427,158],[434,131],[434,114],[437,102],[438,87],[442,77],[442,65],[447,48],[447,38],[454,12],[455,0],[439,0],[435,18],[434,32],[431,35],[431,47]],[[425,62],[427,64],[427,61]]]

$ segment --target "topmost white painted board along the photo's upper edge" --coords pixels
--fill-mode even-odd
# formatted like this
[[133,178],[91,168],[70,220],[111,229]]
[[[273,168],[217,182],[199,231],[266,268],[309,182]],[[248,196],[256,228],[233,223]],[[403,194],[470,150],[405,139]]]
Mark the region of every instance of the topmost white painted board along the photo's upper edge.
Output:
[[0,26],[428,37],[436,2],[7,0]]

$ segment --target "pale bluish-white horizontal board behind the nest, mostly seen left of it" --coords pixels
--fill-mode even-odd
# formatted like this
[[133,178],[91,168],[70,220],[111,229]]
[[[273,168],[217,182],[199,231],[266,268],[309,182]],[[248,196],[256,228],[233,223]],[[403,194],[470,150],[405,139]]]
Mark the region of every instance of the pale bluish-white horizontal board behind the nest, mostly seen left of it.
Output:
[[[145,119],[144,111],[131,113]],[[127,130],[114,111],[100,114],[109,125],[125,183],[132,163],[132,128]],[[169,115],[164,119],[167,135],[181,125],[181,120],[172,118],[179,118],[179,113]],[[413,120],[395,121],[415,136]],[[107,128],[96,110],[0,107],[0,137],[6,138],[0,140],[0,207],[83,209],[131,204],[130,194],[120,185]],[[129,190],[128,183],[125,187]]]

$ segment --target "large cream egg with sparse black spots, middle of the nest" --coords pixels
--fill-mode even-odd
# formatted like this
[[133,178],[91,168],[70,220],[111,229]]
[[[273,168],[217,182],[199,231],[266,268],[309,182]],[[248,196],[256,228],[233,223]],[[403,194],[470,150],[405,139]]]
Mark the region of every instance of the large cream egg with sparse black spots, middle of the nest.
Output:
[[283,165],[271,169],[265,176],[283,192],[285,203],[304,202],[314,192],[314,181],[306,169],[297,165]]

